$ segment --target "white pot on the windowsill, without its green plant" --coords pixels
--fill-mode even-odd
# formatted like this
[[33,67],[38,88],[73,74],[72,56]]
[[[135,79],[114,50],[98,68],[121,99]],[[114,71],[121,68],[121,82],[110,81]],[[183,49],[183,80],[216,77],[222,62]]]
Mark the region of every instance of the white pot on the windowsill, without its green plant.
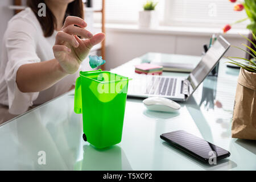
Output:
[[139,27],[155,28],[158,26],[158,14],[155,10],[139,11]]

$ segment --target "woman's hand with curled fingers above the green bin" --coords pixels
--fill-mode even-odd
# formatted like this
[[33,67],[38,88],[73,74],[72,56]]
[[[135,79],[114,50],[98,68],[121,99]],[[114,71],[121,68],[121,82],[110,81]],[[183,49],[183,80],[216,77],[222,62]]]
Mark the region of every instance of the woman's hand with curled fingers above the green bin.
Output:
[[66,73],[75,73],[82,61],[88,56],[90,49],[105,38],[103,33],[93,36],[92,33],[85,30],[86,26],[87,24],[83,19],[68,16],[61,31],[57,32],[53,53]]

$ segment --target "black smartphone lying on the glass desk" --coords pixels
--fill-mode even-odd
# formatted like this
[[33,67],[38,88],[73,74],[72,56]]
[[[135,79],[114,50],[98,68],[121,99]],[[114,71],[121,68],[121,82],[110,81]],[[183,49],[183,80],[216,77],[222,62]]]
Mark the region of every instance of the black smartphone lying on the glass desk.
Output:
[[229,151],[183,130],[164,133],[160,138],[204,163],[209,163],[213,158],[218,161],[230,156]]

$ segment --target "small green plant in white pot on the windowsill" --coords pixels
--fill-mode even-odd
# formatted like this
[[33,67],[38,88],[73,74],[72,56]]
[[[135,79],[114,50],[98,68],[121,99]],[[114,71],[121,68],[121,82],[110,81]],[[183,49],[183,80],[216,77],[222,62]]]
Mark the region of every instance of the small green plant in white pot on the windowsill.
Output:
[[139,11],[139,27],[154,28],[158,26],[158,15],[155,7],[158,2],[147,1],[143,5],[143,11]]

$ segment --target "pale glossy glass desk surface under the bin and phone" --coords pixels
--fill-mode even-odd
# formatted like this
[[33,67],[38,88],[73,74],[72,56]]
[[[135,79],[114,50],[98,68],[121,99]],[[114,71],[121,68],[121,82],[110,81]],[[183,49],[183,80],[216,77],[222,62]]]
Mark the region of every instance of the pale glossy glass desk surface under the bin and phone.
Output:
[[[147,53],[112,70],[123,76],[152,57],[179,61],[181,55]],[[200,57],[184,56],[191,63]],[[0,126],[1,170],[255,170],[256,141],[231,138],[239,70],[221,60],[218,77],[207,77],[179,113],[149,111],[142,99],[127,98],[121,143],[97,150],[82,139],[82,114],[73,111],[73,91]],[[164,72],[163,75],[187,76]],[[215,104],[217,102],[217,104]],[[203,164],[170,146],[160,134],[185,130],[230,151],[217,165]],[[39,164],[40,151],[46,164]]]

